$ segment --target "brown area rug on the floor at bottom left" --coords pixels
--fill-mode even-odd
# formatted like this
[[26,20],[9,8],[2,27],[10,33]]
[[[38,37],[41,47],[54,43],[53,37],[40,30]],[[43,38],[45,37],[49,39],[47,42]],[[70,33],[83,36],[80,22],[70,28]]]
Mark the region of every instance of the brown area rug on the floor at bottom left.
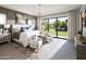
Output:
[[34,50],[26,48],[26,52],[23,52],[23,48],[15,42],[0,43],[0,60],[1,59],[27,59],[34,53]]

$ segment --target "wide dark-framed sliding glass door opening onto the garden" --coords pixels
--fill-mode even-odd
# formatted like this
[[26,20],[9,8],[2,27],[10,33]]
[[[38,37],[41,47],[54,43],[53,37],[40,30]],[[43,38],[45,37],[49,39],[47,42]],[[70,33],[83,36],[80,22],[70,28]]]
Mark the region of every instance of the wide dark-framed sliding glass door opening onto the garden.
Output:
[[41,27],[52,37],[67,38],[67,17],[46,18]]

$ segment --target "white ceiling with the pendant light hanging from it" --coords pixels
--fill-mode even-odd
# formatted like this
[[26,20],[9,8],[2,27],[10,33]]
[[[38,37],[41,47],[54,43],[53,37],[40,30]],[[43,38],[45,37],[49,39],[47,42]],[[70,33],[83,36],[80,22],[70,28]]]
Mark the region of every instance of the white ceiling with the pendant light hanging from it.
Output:
[[[39,15],[38,4],[0,4],[0,5],[7,9],[24,12],[30,15],[35,15],[35,16]],[[40,13],[44,16],[52,13],[60,13],[70,10],[75,10],[81,7],[82,7],[81,4],[41,4]]]

